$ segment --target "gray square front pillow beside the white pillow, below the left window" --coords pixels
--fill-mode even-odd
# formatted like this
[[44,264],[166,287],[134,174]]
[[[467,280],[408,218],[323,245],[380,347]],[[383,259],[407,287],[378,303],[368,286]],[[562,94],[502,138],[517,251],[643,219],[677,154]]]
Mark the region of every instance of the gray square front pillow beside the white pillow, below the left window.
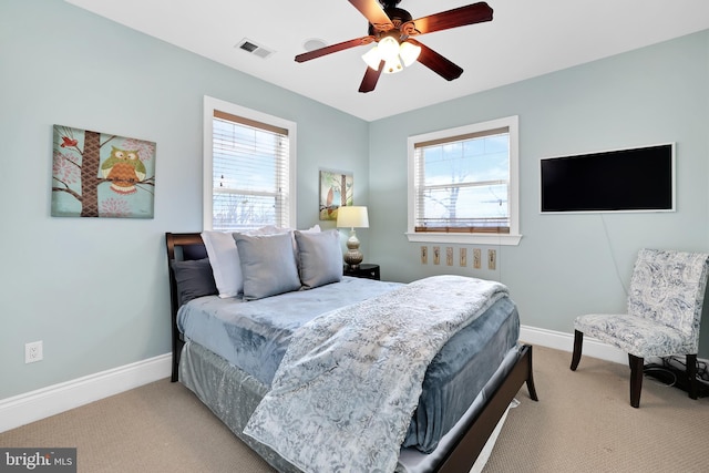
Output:
[[235,233],[244,276],[244,300],[300,289],[290,232],[277,235]]

